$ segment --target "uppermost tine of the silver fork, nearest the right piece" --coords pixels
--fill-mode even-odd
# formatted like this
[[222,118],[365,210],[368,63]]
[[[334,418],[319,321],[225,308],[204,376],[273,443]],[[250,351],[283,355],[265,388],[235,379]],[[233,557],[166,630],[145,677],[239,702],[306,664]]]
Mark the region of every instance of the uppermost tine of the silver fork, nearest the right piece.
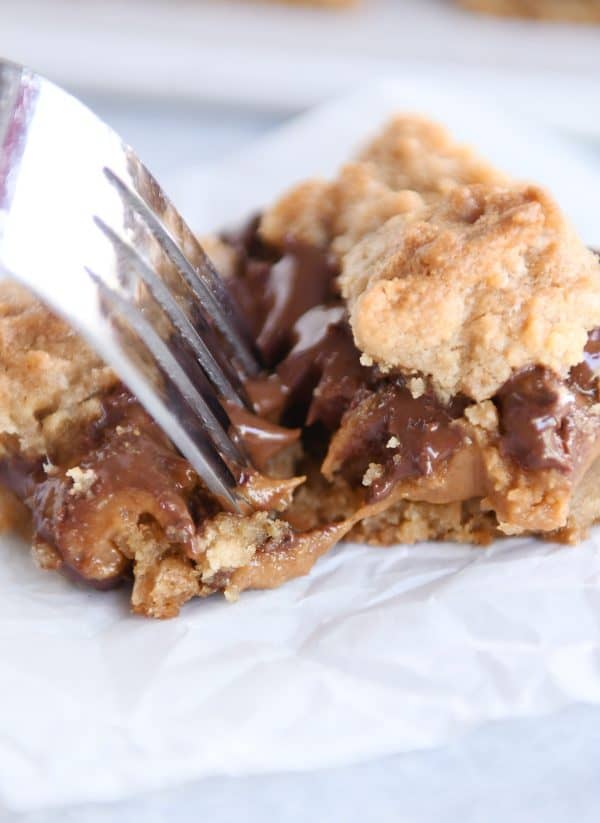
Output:
[[255,376],[260,366],[254,343],[200,243],[132,152],[128,153],[127,170],[134,188],[130,188],[109,168],[104,169],[104,174],[127,206],[144,220],[171,263],[177,267],[198,305],[202,306],[230,345],[244,376]]

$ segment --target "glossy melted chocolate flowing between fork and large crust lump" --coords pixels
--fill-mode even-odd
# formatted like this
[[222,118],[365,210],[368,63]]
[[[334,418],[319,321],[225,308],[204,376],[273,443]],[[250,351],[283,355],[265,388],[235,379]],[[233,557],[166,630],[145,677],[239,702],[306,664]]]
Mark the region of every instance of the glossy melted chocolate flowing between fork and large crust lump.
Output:
[[[290,240],[277,257],[261,244],[257,227],[253,221],[233,238],[238,276],[228,286],[276,370],[278,384],[266,392],[270,408],[281,403],[281,420],[305,429],[305,445],[311,427],[318,427],[321,439],[340,424],[347,429],[339,470],[359,480],[379,460],[385,472],[371,487],[375,497],[400,479],[431,473],[460,445],[450,422],[465,404],[459,400],[456,408],[445,408],[431,393],[415,400],[400,378],[361,365],[329,256]],[[252,384],[248,391],[254,397]],[[390,437],[399,441],[395,449],[385,447]]]

